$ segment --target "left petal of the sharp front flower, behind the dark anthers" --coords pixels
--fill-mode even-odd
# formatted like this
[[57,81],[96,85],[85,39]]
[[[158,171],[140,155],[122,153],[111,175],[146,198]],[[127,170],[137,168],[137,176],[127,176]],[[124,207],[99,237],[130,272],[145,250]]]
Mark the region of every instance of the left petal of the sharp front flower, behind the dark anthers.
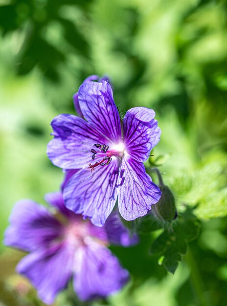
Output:
[[92,161],[91,149],[105,138],[84,119],[61,114],[51,122],[54,139],[47,145],[47,156],[55,166],[63,169],[87,167]]

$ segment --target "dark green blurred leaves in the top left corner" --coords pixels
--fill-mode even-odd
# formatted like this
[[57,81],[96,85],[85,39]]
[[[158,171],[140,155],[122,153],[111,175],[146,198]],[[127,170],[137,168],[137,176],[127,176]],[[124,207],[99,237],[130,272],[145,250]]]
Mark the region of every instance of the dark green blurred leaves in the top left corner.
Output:
[[[88,43],[78,25],[67,16],[68,5],[78,19],[88,4],[91,1],[57,0],[53,6],[50,0],[18,0],[0,6],[2,35],[23,33],[23,43],[17,54],[17,72],[24,75],[38,65],[46,77],[57,81],[59,71],[56,67],[67,61],[68,50],[88,58]],[[59,32],[63,33],[61,38]],[[53,43],[52,35],[58,36],[58,44]]]

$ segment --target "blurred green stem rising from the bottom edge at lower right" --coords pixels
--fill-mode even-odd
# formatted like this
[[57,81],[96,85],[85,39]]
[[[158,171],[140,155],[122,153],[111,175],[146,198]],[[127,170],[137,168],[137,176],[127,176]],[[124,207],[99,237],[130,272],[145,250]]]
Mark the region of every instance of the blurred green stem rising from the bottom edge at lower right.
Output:
[[204,283],[200,275],[200,271],[197,267],[196,261],[189,248],[187,254],[185,255],[185,260],[188,263],[189,268],[191,269],[191,284],[194,289],[194,293],[198,299],[199,306],[211,306],[209,300],[204,295]]

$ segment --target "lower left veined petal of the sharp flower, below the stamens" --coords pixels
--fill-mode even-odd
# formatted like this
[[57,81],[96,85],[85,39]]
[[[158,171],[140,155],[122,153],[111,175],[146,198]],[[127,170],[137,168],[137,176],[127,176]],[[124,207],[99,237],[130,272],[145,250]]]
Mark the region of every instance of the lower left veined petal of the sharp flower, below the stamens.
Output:
[[108,166],[98,166],[93,173],[82,169],[73,175],[63,192],[66,207],[102,226],[116,202],[118,168],[118,159],[113,157]]

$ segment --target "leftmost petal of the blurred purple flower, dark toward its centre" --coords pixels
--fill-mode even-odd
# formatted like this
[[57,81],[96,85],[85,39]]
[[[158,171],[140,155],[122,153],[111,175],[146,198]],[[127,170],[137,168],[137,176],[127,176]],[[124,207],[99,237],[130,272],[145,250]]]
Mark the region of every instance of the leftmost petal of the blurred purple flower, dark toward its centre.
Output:
[[9,221],[4,243],[24,251],[46,247],[62,231],[61,223],[45,207],[32,200],[17,202]]

